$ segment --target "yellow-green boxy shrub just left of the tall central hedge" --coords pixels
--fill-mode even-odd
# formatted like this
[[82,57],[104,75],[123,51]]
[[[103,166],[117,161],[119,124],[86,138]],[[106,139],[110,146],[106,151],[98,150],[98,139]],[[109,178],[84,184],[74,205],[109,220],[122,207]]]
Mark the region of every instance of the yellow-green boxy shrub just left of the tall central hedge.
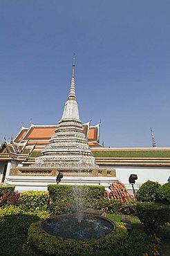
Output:
[[46,210],[48,201],[47,191],[27,191],[22,192],[19,197],[19,203],[23,208],[30,210]]

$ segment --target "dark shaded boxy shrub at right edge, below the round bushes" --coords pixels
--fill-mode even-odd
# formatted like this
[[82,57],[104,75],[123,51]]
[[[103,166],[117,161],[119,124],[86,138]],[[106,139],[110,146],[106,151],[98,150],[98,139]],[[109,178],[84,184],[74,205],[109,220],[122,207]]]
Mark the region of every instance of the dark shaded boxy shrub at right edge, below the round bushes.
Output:
[[169,206],[161,203],[137,203],[137,214],[148,234],[158,234],[169,222]]

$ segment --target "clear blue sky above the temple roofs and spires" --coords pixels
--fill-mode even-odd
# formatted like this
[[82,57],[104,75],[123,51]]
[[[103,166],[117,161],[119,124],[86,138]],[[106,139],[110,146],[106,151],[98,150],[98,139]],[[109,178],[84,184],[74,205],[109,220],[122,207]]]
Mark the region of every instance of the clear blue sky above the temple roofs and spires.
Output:
[[75,53],[82,122],[106,147],[170,146],[170,1],[0,0],[0,143],[62,117]]

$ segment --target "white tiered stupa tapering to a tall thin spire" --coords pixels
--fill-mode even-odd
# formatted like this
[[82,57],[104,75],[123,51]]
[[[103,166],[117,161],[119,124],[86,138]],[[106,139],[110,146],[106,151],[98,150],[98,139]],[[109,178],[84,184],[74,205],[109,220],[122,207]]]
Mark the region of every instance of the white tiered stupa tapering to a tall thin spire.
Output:
[[68,100],[64,106],[62,119],[57,125],[55,134],[41,152],[43,156],[35,159],[37,166],[57,167],[64,171],[69,168],[77,172],[99,168],[88,146],[83,125],[79,119],[79,109],[75,95],[75,57]]

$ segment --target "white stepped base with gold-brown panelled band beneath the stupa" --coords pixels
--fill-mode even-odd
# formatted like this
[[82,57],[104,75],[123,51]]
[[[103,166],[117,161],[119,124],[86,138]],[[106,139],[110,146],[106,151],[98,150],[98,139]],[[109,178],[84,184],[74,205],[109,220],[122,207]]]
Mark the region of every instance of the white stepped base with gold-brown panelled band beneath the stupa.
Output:
[[28,190],[46,191],[48,184],[56,184],[59,172],[64,174],[59,184],[67,185],[103,185],[108,186],[117,181],[114,169],[64,169],[53,167],[17,167],[12,168],[10,176],[5,181],[6,185],[15,185],[15,190],[22,192]]

